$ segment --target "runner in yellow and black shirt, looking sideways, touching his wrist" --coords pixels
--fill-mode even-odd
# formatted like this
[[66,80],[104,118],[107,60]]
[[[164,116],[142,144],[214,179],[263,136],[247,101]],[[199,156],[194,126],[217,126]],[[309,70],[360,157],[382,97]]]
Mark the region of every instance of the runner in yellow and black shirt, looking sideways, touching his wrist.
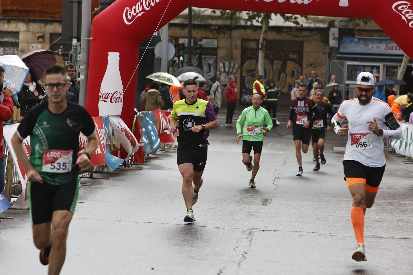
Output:
[[170,123],[172,134],[179,130],[176,158],[183,178],[182,195],[187,209],[183,221],[192,222],[195,221],[192,205],[198,200],[207,163],[209,130],[218,127],[218,120],[211,103],[197,99],[195,80],[185,80],[183,93],[186,99],[173,104]]

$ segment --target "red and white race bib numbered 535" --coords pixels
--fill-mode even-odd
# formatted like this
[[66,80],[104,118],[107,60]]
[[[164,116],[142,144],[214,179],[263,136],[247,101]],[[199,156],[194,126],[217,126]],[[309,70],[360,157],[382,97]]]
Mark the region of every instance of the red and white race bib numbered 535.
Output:
[[67,173],[72,171],[73,150],[43,150],[42,172]]

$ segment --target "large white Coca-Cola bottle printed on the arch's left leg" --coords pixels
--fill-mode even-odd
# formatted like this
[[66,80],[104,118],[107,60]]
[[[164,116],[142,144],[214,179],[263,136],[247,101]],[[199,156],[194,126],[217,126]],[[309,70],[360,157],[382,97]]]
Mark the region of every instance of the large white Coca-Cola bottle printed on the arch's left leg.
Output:
[[119,71],[119,52],[108,52],[107,68],[99,92],[99,115],[120,115],[123,106],[123,85]]

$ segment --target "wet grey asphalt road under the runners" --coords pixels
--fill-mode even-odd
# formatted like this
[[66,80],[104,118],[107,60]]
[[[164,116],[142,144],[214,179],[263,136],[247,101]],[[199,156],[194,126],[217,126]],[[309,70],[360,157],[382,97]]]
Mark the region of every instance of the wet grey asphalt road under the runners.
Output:
[[[241,162],[235,127],[211,132],[204,185],[185,224],[176,153],[109,180],[83,179],[61,274],[413,274],[412,164],[394,155],[366,214],[368,261],[355,262],[351,196],[343,180],[345,140],[328,133],[327,164],[311,152],[298,170],[284,122],[264,140],[256,189]],[[235,122],[235,121],[234,121]],[[311,149],[311,147],[310,147]],[[33,245],[29,213],[7,210],[0,223],[2,274],[46,274]]]

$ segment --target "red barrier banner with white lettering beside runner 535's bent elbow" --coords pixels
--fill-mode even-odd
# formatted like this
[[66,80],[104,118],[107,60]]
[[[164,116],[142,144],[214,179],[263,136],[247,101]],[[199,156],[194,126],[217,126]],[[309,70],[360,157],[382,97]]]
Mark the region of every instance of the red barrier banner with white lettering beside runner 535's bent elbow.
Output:
[[[102,117],[95,117],[93,118],[93,122],[95,122],[96,133],[99,138],[99,143],[95,153],[90,157],[90,162],[92,166],[96,165],[104,165],[105,164],[105,155],[106,155],[106,133],[103,126]],[[79,134],[79,153],[80,155],[86,147],[86,143],[88,142],[88,138],[81,132]]]

